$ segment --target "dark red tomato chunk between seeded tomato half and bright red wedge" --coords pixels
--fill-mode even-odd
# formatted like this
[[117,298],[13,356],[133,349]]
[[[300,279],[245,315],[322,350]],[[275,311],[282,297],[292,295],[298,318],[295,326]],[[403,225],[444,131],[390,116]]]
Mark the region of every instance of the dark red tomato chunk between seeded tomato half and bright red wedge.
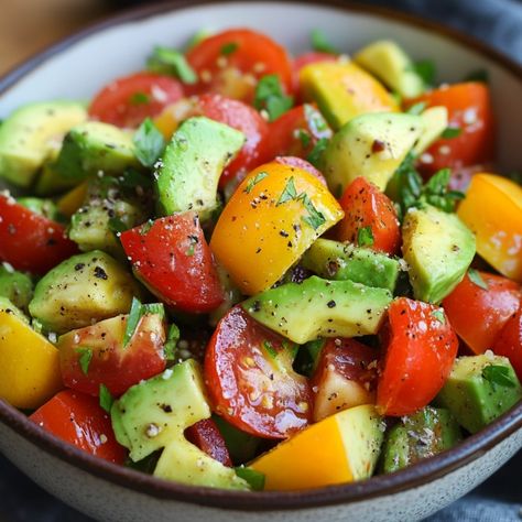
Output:
[[312,377],[314,421],[374,402],[380,350],[355,339],[328,339]]

